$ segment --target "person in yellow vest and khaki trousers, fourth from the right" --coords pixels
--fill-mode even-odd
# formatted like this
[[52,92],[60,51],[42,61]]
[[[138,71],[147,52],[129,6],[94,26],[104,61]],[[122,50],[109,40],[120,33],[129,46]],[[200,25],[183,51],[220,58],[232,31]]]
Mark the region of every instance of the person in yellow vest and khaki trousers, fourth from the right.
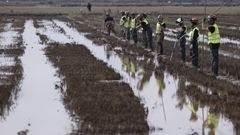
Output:
[[156,37],[157,37],[157,53],[163,54],[163,40],[164,40],[164,30],[166,28],[166,24],[163,22],[163,17],[161,15],[158,16],[158,22],[156,24]]

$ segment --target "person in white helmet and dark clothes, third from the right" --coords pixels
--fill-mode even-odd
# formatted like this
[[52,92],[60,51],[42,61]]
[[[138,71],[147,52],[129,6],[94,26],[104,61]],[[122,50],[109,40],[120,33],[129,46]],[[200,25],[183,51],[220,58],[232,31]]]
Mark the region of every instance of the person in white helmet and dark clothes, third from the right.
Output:
[[177,28],[177,39],[179,40],[179,45],[181,48],[181,58],[182,61],[185,63],[186,61],[186,32],[187,27],[184,25],[184,21],[182,18],[178,18],[176,20],[176,23],[178,25]]

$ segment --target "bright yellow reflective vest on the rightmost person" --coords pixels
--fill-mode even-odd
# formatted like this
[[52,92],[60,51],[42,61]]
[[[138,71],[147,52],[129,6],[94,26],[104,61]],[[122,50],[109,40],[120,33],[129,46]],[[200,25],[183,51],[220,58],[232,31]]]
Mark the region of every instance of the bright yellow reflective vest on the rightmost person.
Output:
[[214,24],[213,27],[215,28],[214,32],[208,32],[208,44],[218,44],[221,40],[217,24]]

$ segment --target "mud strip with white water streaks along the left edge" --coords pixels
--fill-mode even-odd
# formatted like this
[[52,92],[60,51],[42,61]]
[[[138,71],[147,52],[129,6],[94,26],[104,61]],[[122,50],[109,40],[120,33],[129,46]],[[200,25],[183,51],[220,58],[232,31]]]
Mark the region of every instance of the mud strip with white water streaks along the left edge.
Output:
[[0,37],[0,120],[6,119],[11,111],[23,77],[23,67],[20,57],[24,53],[22,38],[19,36],[23,29],[23,23],[16,19],[1,22]]

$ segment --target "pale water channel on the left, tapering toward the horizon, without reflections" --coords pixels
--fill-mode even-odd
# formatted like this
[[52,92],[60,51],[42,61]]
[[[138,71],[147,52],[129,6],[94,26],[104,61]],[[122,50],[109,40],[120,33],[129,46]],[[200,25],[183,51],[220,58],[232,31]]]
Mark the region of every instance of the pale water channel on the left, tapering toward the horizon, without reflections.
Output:
[[23,40],[26,45],[22,57],[24,79],[21,91],[6,119],[0,121],[0,134],[16,135],[28,131],[28,135],[63,135],[70,133],[73,123],[55,89],[59,78],[47,62],[39,44],[39,37],[32,21],[26,21]]

